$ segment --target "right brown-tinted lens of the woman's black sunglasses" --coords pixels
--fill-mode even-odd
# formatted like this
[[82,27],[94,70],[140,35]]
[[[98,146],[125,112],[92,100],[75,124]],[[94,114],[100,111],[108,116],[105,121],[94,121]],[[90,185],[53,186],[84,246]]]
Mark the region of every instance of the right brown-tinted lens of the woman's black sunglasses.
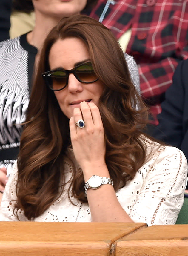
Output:
[[76,75],[82,82],[94,82],[98,79],[91,63],[80,65],[76,68]]

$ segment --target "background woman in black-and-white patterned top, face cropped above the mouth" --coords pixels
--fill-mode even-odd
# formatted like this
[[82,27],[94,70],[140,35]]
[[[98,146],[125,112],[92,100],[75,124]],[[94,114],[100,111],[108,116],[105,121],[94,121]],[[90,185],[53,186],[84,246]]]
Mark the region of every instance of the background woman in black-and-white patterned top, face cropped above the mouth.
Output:
[[[64,16],[78,14],[92,7],[97,0],[14,0],[14,10],[34,8],[33,31],[0,44],[0,191],[4,191],[19,152],[21,123],[25,121],[33,67],[47,33]],[[131,77],[139,88],[138,68],[132,56],[126,55]],[[7,171],[6,171],[7,168]]]

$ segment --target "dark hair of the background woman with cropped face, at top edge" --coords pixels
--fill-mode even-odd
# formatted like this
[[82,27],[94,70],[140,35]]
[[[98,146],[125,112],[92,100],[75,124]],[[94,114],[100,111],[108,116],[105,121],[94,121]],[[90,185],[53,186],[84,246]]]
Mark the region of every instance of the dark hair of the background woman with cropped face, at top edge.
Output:
[[[87,0],[86,7],[84,10],[90,9],[93,7],[98,0]],[[13,11],[19,11],[19,12],[25,12],[25,13],[30,13],[34,11],[33,3],[31,0],[13,0],[12,3],[12,10]]]

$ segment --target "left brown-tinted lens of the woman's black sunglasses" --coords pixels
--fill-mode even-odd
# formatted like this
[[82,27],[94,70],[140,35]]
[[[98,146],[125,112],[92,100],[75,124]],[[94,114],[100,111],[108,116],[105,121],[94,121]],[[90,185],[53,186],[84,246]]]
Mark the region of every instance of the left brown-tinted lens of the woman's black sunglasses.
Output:
[[63,70],[52,71],[47,75],[47,79],[53,90],[60,90],[66,85],[67,74]]

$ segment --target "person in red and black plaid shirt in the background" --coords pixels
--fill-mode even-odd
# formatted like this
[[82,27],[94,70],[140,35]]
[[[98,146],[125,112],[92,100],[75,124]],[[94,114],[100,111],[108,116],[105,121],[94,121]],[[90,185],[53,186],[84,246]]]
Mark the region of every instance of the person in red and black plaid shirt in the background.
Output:
[[99,0],[87,14],[108,27],[134,57],[150,122],[157,125],[175,68],[188,58],[188,1]]

